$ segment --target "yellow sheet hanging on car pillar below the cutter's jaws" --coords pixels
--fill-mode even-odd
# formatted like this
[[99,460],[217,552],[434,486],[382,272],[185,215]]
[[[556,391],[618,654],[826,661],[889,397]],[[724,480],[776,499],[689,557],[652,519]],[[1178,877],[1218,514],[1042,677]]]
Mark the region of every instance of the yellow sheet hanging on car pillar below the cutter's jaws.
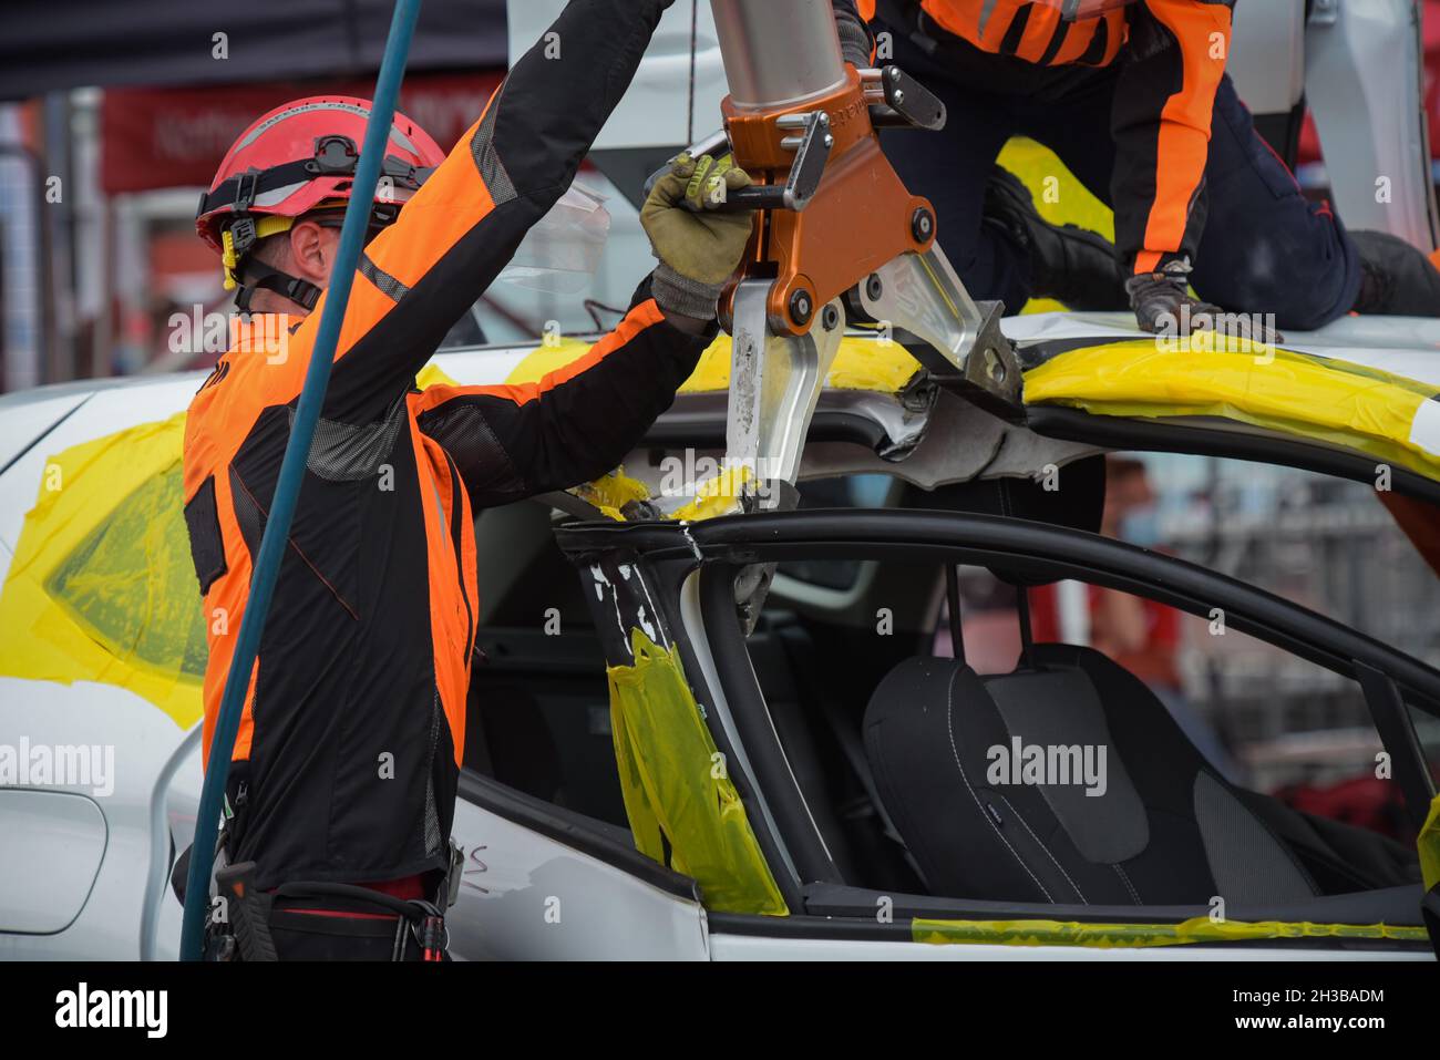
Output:
[[635,664],[609,667],[611,727],[635,847],[700,883],[706,909],[786,916],[744,805],[706,729],[680,655],[631,631]]

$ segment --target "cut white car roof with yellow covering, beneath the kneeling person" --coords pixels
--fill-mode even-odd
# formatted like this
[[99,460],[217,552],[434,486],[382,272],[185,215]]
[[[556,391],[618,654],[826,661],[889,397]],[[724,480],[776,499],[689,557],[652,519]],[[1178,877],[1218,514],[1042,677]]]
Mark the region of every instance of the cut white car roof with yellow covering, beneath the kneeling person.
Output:
[[[1368,474],[1377,454],[1382,454],[1413,480],[1410,493],[1440,500],[1440,434],[1436,434],[1440,428],[1440,398],[1436,396],[1440,395],[1440,321],[1349,317],[1323,331],[1286,336],[1283,354],[1296,359],[1312,379],[1329,387],[1326,402],[1302,395],[1290,402],[1286,416],[1250,415],[1243,402],[1205,403],[1197,399],[1166,405],[1175,400],[1176,379],[1184,383],[1187,373],[1198,376],[1200,369],[1214,369],[1221,357],[1212,351],[1185,351],[1182,359],[1172,359],[1171,373],[1164,377],[1149,372],[1132,373],[1138,376],[1132,386],[1142,387],[1139,398],[1145,400],[1136,405],[1136,393],[1130,392],[1128,403],[1113,408],[1103,400],[1103,393],[1097,399],[1093,392],[1100,386],[1096,382],[1099,372],[1067,376],[1056,367],[1092,363],[1097,357],[1103,360],[1093,363],[1123,367],[1133,360],[1139,356],[1138,343],[1152,340],[1135,330],[1129,314],[1008,317],[1004,330],[1017,343],[1027,366],[1027,406],[1017,410],[1015,422],[1005,425],[991,423],[989,413],[978,413],[950,395],[936,399],[932,393],[935,387],[900,341],[852,331],[827,377],[811,431],[811,442],[818,442],[816,449],[824,449],[824,454],[809,461],[804,474],[890,471],[922,485],[933,485],[976,474],[1032,472],[1025,461],[1040,467],[1096,451],[1152,449],[1260,459],[1358,478]],[[539,346],[513,343],[449,350],[436,354],[418,382],[420,386],[435,382],[492,386],[537,380],[582,356],[593,340],[595,336],[577,336]],[[723,449],[729,361],[729,337],[720,336],[674,406],[657,422],[647,439],[651,449]],[[1289,369],[1282,369],[1286,370],[1248,370],[1234,382],[1243,396],[1260,395],[1269,402],[1276,395],[1284,396]],[[1044,400],[1031,400],[1030,390],[1041,390],[1031,385],[1040,373],[1045,376]],[[128,412],[122,410],[131,406],[168,408],[170,415],[183,412],[203,376],[203,372],[190,372],[81,380],[4,395],[0,398],[0,472],[96,395],[127,389],[124,400],[115,400],[120,395],[114,395],[101,402],[107,410],[104,419],[95,423],[95,436],[134,425]],[[1391,419],[1395,422],[1388,428],[1391,436],[1377,441],[1354,429],[1335,429],[1333,416],[1328,418],[1322,405],[1344,405],[1361,398],[1372,400],[1381,385],[1377,380],[1390,380],[1387,386],[1398,387],[1395,395],[1413,405],[1394,410]],[[1153,393],[1143,393],[1151,383]],[[1179,389],[1184,390],[1184,386]],[[161,398],[161,393],[166,396]],[[99,408],[91,412],[101,415]],[[1431,434],[1420,438],[1423,418],[1428,418]],[[1126,431],[1116,431],[1120,425]],[[1162,425],[1182,428],[1188,441],[1178,442],[1174,432],[1158,431]],[[1408,436],[1407,429],[1416,436]],[[930,467],[912,468],[912,474],[906,474],[904,464],[919,442],[937,431],[949,439],[946,452],[930,452]],[[1005,452],[1009,459],[978,461],[976,446],[960,444],[968,432],[984,435],[979,448],[991,446],[991,457]],[[827,448],[825,442],[852,445]],[[1027,446],[1032,452],[1020,459],[1018,451]],[[953,467],[940,467],[943,464]]]

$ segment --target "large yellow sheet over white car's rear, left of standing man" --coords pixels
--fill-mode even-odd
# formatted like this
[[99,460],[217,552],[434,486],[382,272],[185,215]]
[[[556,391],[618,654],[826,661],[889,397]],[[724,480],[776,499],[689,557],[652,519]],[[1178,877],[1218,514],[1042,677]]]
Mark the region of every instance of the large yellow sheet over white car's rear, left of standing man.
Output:
[[128,688],[192,726],[204,615],[184,526],[184,415],[50,457],[0,589],[0,674]]

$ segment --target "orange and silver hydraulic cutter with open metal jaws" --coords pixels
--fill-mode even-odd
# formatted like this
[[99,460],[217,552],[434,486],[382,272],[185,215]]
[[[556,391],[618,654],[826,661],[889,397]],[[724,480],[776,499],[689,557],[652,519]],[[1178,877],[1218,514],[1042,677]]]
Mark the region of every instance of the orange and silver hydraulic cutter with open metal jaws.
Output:
[[936,245],[876,125],[937,130],[945,107],[896,66],[841,58],[829,0],[711,0],[730,95],[723,150],[756,179],[730,206],[755,236],[720,300],[732,333],[726,459],[749,474],[739,507],[793,507],[793,482],[847,318],[881,327],[920,363],[1002,415],[1021,372],[998,302],[978,305]]

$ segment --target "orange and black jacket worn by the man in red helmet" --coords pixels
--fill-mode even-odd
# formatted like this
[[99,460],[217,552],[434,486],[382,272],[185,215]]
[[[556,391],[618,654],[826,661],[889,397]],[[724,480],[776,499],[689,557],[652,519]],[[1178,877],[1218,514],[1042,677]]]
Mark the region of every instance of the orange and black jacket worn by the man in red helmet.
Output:
[[[570,184],[668,0],[573,0],[366,249],[229,785],[256,884],[446,863],[475,638],[475,510],[613,468],[707,338],[645,285],[577,363],[523,386],[415,387],[451,324]],[[226,353],[190,405],[184,495],[210,629],[204,753],[321,305]],[[274,327],[274,318],[261,321]],[[504,563],[504,556],[485,556]]]

